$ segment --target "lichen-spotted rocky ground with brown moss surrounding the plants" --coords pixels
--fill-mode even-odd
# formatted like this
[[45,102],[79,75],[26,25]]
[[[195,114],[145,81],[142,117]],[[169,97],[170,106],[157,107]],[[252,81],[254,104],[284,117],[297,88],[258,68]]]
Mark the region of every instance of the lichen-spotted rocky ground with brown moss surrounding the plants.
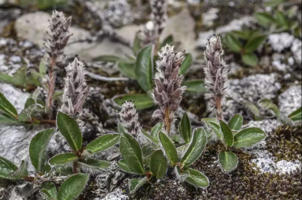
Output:
[[[84,1],[67,1],[67,5],[58,7],[58,10],[73,16],[70,29],[73,36],[64,50],[66,63],[79,54],[90,72],[88,81],[91,89],[83,116],[87,126],[83,133],[85,142],[117,131],[119,107],[111,100],[113,96],[142,92],[137,83],[120,74],[113,63],[99,62],[96,58],[105,54],[125,56],[131,52],[128,44],[132,44],[140,23],[148,19],[149,13],[146,1],[93,1],[122,40],[116,41],[110,36],[98,37],[102,30],[101,23],[87,10]],[[0,0],[0,72],[10,75],[24,65],[24,60],[29,68],[38,68],[44,54],[43,37],[51,14],[51,9],[38,11],[34,6],[19,6],[17,2]],[[253,13],[268,9],[263,7],[262,1],[168,2],[169,19],[161,39],[172,34],[180,42],[178,49],[185,49],[193,55],[194,62],[186,74],[187,80],[203,78],[203,48],[208,37],[214,33],[255,27]],[[296,12],[301,15],[301,4],[298,4]],[[226,50],[226,62],[230,68],[230,78],[226,83],[226,119],[241,113],[244,126],[259,127],[267,134],[264,141],[252,148],[234,150],[239,158],[235,171],[224,173],[219,167],[217,153],[222,146],[212,141],[192,166],[210,179],[207,189],[180,183],[173,170],[169,169],[164,180],[152,180],[135,194],[130,194],[127,185],[130,176],[113,165],[104,173],[92,176],[78,199],[301,199],[301,122],[290,127],[274,117],[255,121],[254,114],[246,107],[246,102],[257,105],[261,98],[268,98],[279,106],[282,114],[288,115],[301,106],[301,38],[287,32],[273,33],[257,51],[261,55],[259,65],[246,67]],[[60,73],[63,76],[63,71]],[[62,79],[59,78],[57,83],[62,87]],[[32,92],[2,82],[0,91],[18,111],[23,109],[26,98]],[[182,109],[190,113],[192,124],[196,127],[204,125],[201,118],[212,116],[203,95],[187,92],[182,102]],[[146,130],[157,123],[151,120],[154,109],[140,111],[140,121]],[[47,126],[0,125],[0,156],[16,165],[26,160],[29,172],[33,173],[28,145],[31,138]],[[176,127],[177,123],[172,132],[176,132]],[[61,139],[59,136],[52,138],[49,155],[68,151],[67,145],[58,142]],[[101,157],[116,160],[119,154],[111,150]],[[104,180],[108,181],[104,183]],[[39,191],[33,190],[30,183],[0,180],[0,199],[40,198]]]

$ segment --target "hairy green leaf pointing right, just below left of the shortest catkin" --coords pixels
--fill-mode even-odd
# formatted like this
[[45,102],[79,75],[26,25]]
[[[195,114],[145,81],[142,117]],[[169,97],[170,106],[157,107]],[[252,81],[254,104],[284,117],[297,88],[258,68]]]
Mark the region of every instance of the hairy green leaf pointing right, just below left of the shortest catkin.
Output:
[[120,140],[120,134],[105,134],[92,140],[85,148],[91,153],[105,151],[114,146]]

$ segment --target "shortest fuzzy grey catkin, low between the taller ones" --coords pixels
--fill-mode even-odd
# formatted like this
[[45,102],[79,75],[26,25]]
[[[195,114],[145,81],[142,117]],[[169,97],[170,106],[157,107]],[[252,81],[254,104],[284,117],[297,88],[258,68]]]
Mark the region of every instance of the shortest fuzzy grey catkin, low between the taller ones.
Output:
[[140,133],[140,128],[142,126],[138,120],[139,116],[134,103],[131,101],[125,101],[118,114],[120,116],[120,122],[122,122],[128,133],[136,138],[140,144],[142,144],[144,142],[143,135]]

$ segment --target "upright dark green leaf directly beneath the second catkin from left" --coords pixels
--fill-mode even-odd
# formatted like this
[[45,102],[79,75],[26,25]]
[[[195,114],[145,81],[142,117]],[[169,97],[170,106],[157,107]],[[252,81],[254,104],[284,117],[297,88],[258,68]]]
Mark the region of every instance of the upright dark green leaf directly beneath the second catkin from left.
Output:
[[74,151],[79,151],[82,148],[82,133],[76,120],[65,113],[58,112],[56,123],[70,147]]

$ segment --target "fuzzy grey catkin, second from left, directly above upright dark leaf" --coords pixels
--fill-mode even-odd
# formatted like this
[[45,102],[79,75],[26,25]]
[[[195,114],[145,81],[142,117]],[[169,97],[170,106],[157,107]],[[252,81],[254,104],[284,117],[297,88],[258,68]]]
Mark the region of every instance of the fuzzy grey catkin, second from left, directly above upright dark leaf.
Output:
[[73,62],[70,62],[65,68],[66,77],[64,78],[63,105],[60,111],[70,116],[80,113],[89,91],[84,67],[84,63],[79,61],[76,56]]

